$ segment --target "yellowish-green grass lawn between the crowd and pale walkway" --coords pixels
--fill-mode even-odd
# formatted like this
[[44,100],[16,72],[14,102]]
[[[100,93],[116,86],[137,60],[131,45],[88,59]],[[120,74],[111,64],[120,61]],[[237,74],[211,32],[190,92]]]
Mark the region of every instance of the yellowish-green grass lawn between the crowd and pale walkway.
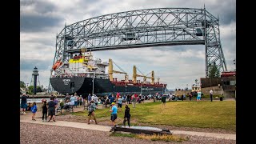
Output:
[[[161,102],[146,102],[130,107],[132,126],[168,125],[198,128],[220,128],[236,131],[236,102],[235,101],[202,101],[202,102],[166,102],[166,109],[162,109]],[[110,108],[96,110],[97,119],[110,120]],[[124,106],[118,118],[123,120]],[[74,113],[85,117],[87,113]],[[118,124],[122,124],[119,120]]]

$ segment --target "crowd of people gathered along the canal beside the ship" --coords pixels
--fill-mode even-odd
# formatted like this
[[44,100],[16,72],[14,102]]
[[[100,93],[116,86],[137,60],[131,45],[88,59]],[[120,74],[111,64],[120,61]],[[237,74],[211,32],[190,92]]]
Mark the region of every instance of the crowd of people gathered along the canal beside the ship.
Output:
[[[191,99],[196,96],[197,102],[201,101],[202,92],[200,90],[191,92],[188,94],[188,97]],[[213,97],[213,90],[210,90],[210,100],[212,102]],[[21,114],[26,114],[26,110],[31,110],[32,112],[32,120],[35,120],[35,114],[38,111],[38,106],[36,102],[33,102],[31,106],[27,106],[26,101],[26,94],[22,94],[21,98]],[[95,124],[98,124],[96,119],[95,111],[98,109],[98,104],[102,104],[102,106],[110,106],[110,122],[111,126],[116,126],[115,121],[118,118],[118,113],[122,112],[122,105],[125,105],[125,114],[123,118],[123,126],[126,126],[126,122],[128,122],[128,126],[130,127],[130,107],[129,104],[132,104],[133,108],[136,108],[137,103],[144,102],[145,100],[153,100],[153,102],[159,101],[162,102],[162,109],[166,109],[166,99],[170,100],[177,100],[177,96],[174,96],[172,94],[155,94],[155,95],[142,95],[142,94],[127,94],[127,95],[121,95],[117,93],[105,95],[104,97],[98,98],[95,94],[89,94],[85,99],[82,98],[82,95],[78,96],[78,94],[74,93],[74,95],[66,94],[66,97],[62,100],[58,100],[55,95],[50,96],[50,102],[46,101],[46,98],[42,99],[42,122],[50,122],[51,120],[56,122],[55,120],[55,110],[58,106],[67,110],[69,109],[69,106],[87,106],[88,110],[88,121],[87,123],[90,124],[90,122],[95,122]],[[180,99],[183,100],[186,98],[186,95],[183,94]],[[87,105],[86,105],[87,104]],[[116,105],[117,104],[117,105]],[[47,115],[48,114],[48,115]],[[93,118],[93,120],[90,120]],[[48,119],[48,120],[47,120]]]

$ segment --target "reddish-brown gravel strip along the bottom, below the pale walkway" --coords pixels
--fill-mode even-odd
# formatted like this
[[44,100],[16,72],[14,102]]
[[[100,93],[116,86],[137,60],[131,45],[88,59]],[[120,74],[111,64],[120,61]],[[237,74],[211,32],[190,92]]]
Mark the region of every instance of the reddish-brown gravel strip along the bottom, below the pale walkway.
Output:
[[[198,136],[184,136],[188,141],[178,142],[181,144],[235,144],[234,140],[224,140],[218,138],[206,138]],[[20,122],[20,143],[177,143],[150,141],[138,138],[112,137],[110,132],[98,130],[83,130],[78,128],[49,126],[33,123]]]

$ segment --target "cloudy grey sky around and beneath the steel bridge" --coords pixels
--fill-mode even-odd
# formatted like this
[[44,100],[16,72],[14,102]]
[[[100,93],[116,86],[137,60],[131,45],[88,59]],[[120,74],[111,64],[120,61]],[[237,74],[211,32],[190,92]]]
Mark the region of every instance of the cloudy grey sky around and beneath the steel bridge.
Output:
[[[40,86],[49,85],[54,62],[56,35],[66,25],[103,14],[149,8],[203,8],[220,19],[220,38],[228,70],[234,70],[236,59],[235,0],[21,0],[20,1],[20,80],[31,83],[34,67],[38,68]],[[126,50],[104,50],[95,58],[109,58],[129,74],[133,66],[143,74],[154,70],[155,79],[167,89],[189,89],[195,79],[205,78],[204,45],[158,46]],[[114,65],[114,70],[119,70]],[[107,70],[106,70],[107,71]],[[138,74],[140,74],[138,72]],[[124,79],[124,74],[114,74]],[[138,78],[142,81],[142,78]],[[150,81],[148,79],[147,81]]]

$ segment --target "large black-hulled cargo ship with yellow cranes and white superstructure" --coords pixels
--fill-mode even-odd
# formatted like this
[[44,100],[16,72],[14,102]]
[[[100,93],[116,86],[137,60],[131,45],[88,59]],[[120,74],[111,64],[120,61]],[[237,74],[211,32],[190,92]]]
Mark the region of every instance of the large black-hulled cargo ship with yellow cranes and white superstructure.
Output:
[[[106,66],[109,67],[106,74]],[[166,84],[154,82],[154,71],[151,77],[139,75],[134,66],[133,80],[128,79],[128,74],[124,71],[113,70],[113,61],[102,62],[100,58],[93,58],[91,52],[82,51],[73,54],[73,57],[66,63],[57,61],[52,67],[50,84],[60,94],[88,95],[96,94],[98,96],[108,94],[155,94],[164,93]],[[118,81],[113,78],[113,74],[125,74],[125,79]],[[143,77],[143,82],[137,80],[137,77]],[[146,82],[146,78],[151,78],[151,82]],[[159,79],[158,79],[159,81]]]

